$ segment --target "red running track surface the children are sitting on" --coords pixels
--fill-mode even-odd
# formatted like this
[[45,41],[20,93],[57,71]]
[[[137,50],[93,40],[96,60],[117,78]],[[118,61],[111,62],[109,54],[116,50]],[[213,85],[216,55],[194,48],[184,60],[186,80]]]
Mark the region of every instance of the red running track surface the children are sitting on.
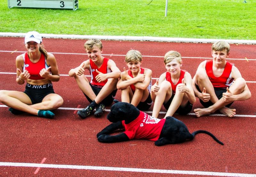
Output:
[[[24,85],[16,84],[15,74],[4,74],[15,73],[15,58],[22,51],[26,51],[23,41],[23,38],[0,37],[0,89],[24,90]],[[87,59],[83,48],[85,40],[43,39],[43,42],[46,50],[54,53],[60,74],[68,74],[71,68]],[[102,42],[103,54],[107,54],[106,57],[114,60],[120,69],[125,67],[126,52],[130,49],[139,50],[144,56],[142,66],[152,69],[153,78],[158,78],[165,71],[163,56],[169,50],[177,50],[181,53],[184,57],[182,69],[190,72],[192,77],[199,63],[206,60],[204,58],[211,58],[211,44]],[[14,53],[8,52],[15,50],[17,51]],[[240,116],[196,118],[194,115],[175,115],[188,126],[191,132],[199,129],[210,131],[225,144],[224,146],[217,144],[211,137],[204,134],[197,135],[193,141],[162,147],[157,147],[154,142],[148,140],[102,144],[97,141],[96,134],[109,124],[106,119],[108,112],[105,112],[102,118],[88,117],[82,120],[76,115],[76,110],[58,109],[55,110],[54,119],[45,119],[27,114],[14,116],[8,108],[0,107],[2,122],[0,124],[0,176],[32,176],[36,171],[36,175],[39,176],[231,176],[231,173],[242,173],[233,174],[236,176],[256,176],[254,106],[256,46],[234,44],[231,45],[230,53],[230,62],[235,63],[246,81],[251,81],[247,84],[252,92],[252,98],[232,105],[232,108],[237,110],[236,114]],[[85,74],[89,75],[89,72]],[[62,108],[87,106],[88,101],[73,78],[61,76],[61,80],[53,84],[55,92],[64,99]],[[116,98],[121,99],[120,91],[117,92]],[[202,107],[198,99],[193,107]],[[152,111],[152,108],[149,111]],[[164,114],[160,114],[160,118],[162,117]],[[43,159],[45,159],[44,162],[42,162]],[[24,164],[5,166],[7,162],[22,162],[27,165],[42,162],[45,165],[53,165],[42,168],[37,168],[39,165],[20,167]],[[56,165],[73,165],[73,168],[78,169],[66,169],[63,166],[56,168]],[[94,168],[81,169],[85,168],[84,166]],[[120,169],[112,168],[114,171],[111,171],[110,168],[102,170],[102,167],[126,169],[115,171]],[[126,172],[127,168],[132,172]],[[135,168],[150,170],[147,171],[148,173],[136,172]],[[159,171],[156,172],[155,169]],[[186,175],[178,173],[186,173]]]

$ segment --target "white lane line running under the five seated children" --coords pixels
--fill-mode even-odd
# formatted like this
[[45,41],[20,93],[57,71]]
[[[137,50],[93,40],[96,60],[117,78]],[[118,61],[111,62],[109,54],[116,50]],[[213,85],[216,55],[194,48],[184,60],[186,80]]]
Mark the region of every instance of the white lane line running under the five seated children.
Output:
[[[5,105],[0,105],[0,107],[8,107]],[[82,110],[84,108],[63,108],[60,107],[58,108],[58,110]],[[110,112],[110,110],[105,110],[106,112]],[[147,114],[152,114],[152,111],[143,111]],[[166,114],[166,112],[160,111],[159,114]],[[196,116],[195,113],[188,113],[187,115],[192,115],[192,116]],[[208,116],[225,116],[224,114],[210,114]],[[243,114],[235,114],[234,117],[256,117],[256,115],[243,115]]]

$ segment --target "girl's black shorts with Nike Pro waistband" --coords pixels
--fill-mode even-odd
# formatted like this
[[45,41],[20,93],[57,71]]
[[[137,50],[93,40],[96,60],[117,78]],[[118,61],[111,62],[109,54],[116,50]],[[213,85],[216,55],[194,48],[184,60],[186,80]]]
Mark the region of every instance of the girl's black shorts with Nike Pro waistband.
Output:
[[24,93],[28,95],[32,104],[36,104],[41,103],[46,95],[54,93],[54,90],[52,83],[44,85],[31,85],[27,83]]

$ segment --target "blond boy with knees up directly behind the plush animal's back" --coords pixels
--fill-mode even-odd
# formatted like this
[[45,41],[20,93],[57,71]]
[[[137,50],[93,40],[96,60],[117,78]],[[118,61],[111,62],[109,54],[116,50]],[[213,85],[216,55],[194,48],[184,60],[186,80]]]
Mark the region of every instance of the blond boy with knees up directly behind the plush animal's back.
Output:
[[159,111],[164,104],[167,116],[178,114],[188,114],[192,110],[192,105],[196,101],[192,88],[192,77],[181,70],[181,55],[176,51],[169,51],[164,56],[166,72],[161,74],[159,81],[151,88],[151,97],[154,101],[152,117],[158,117]]

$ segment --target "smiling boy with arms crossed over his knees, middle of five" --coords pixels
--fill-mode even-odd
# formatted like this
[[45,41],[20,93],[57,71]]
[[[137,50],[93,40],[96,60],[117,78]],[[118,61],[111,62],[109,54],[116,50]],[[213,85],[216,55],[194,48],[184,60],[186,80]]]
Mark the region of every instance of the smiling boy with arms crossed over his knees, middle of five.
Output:
[[130,50],[125,56],[128,70],[121,73],[121,79],[117,83],[117,89],[121,89],[122,102],[131,103],[139,110],[148,110],[152,104],[150,97],[152,71],[140,67],[142,63],[141,53]]

